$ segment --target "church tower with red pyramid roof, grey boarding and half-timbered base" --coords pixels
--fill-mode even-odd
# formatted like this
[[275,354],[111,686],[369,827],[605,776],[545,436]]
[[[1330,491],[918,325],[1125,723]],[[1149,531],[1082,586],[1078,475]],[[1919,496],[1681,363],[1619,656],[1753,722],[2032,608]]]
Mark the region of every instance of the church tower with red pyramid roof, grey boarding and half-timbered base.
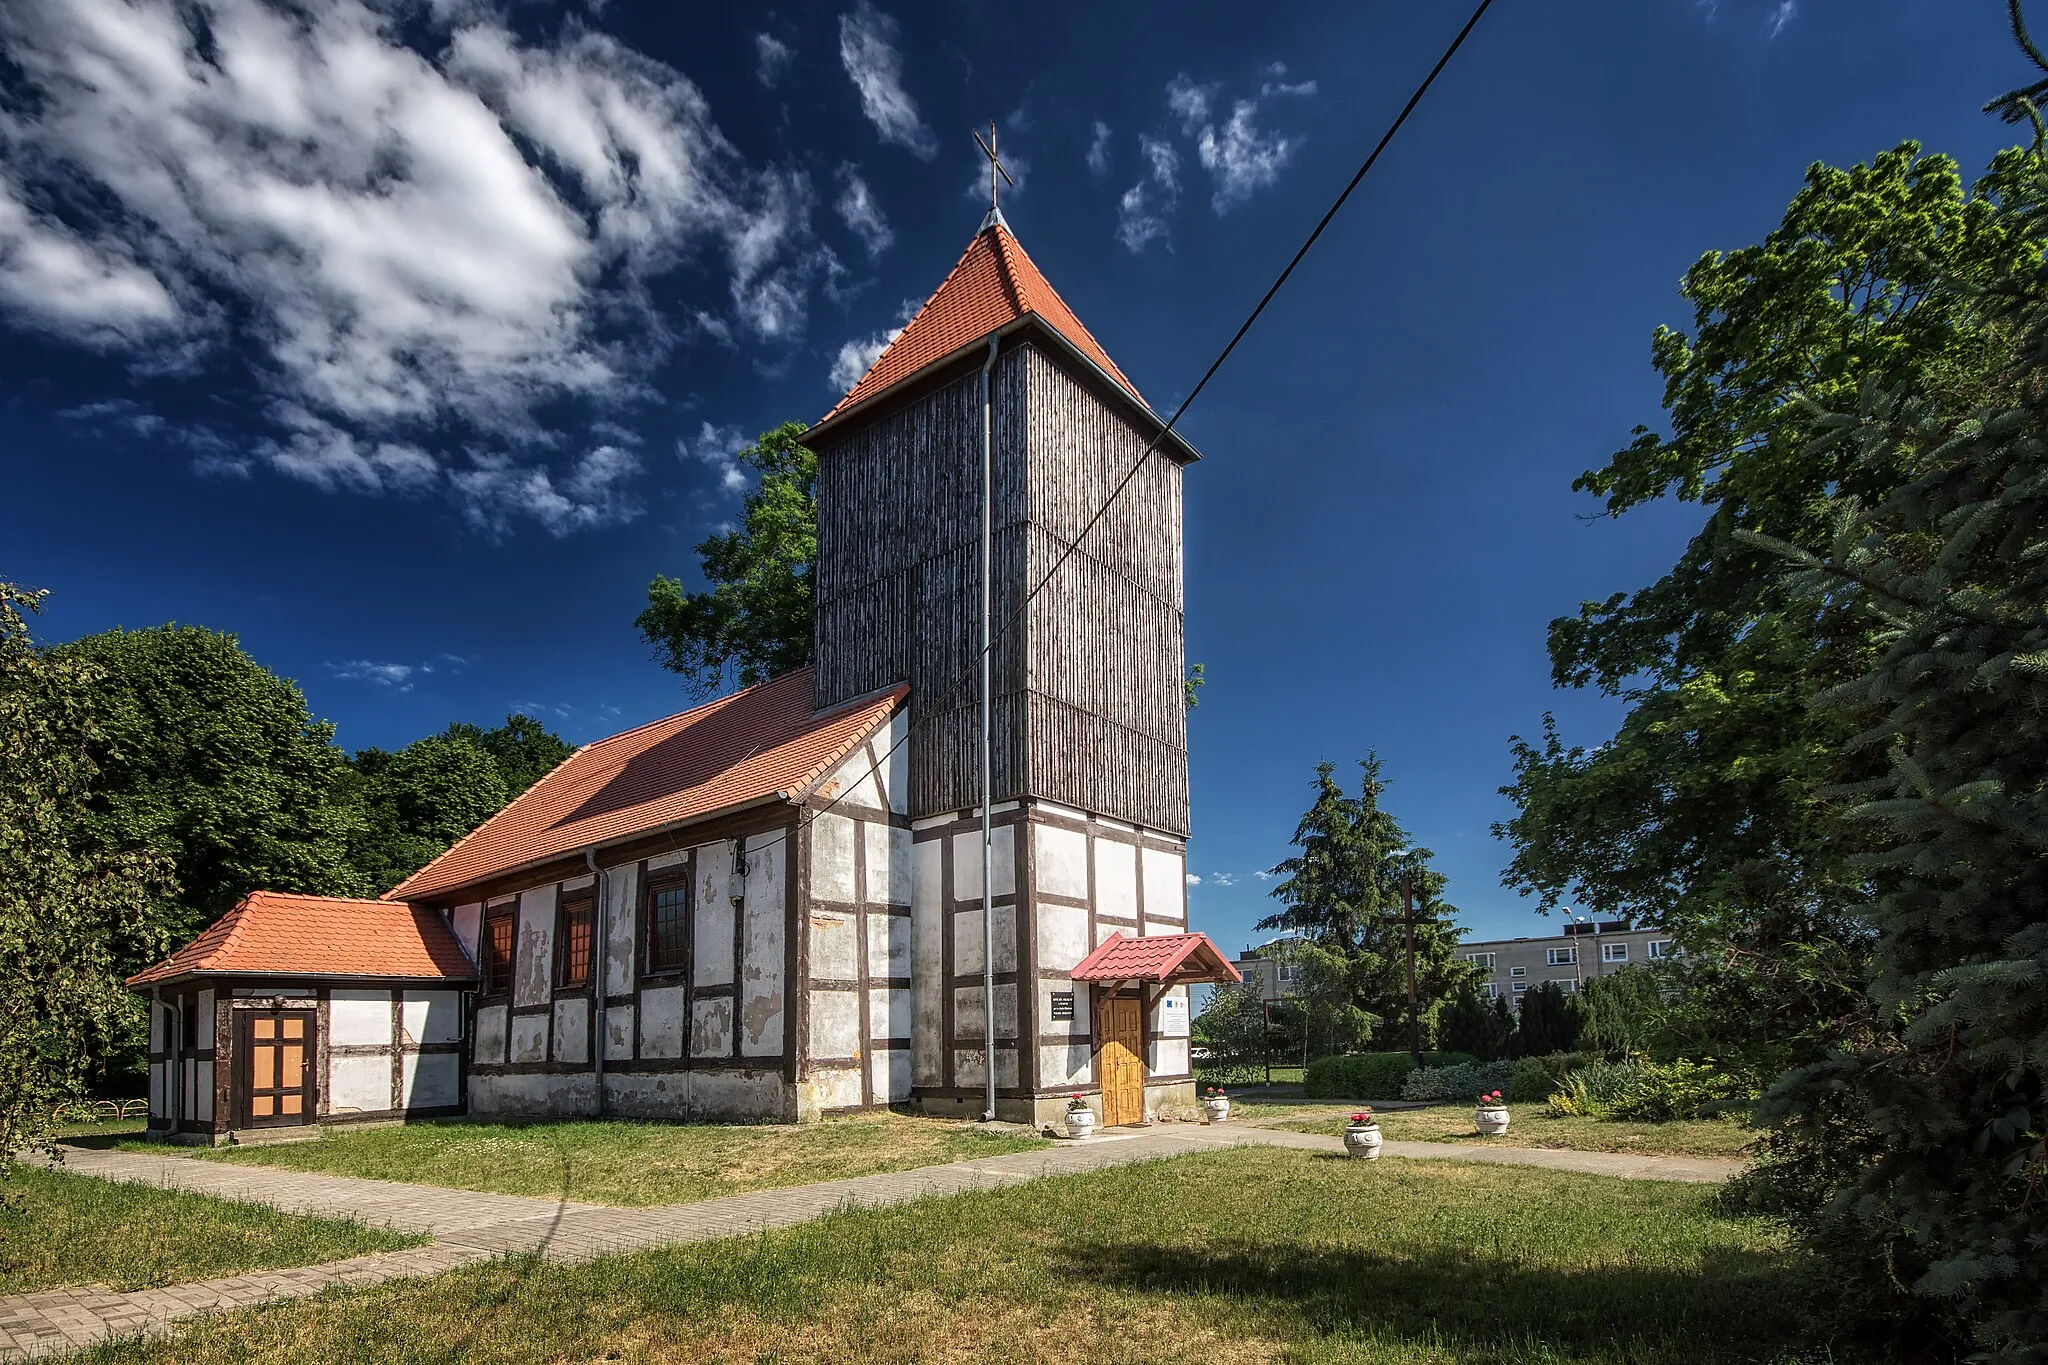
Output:
[[[909,684],[911,1083],[928,1109],[979,1111],[991,1058],[1006,1119],[1055,1121],[1075,1091],[1100,1091],[1112,1124],[1192,1101],[1188,988],[1073,976],[1116,933],[1188,933],[1180,481],[1194,448],[1167,434],[1081,534],[1163,426],[991,209],[901,336],[805,436],[819,456],[815,704]],[[993,1050],[981,929],[985,432],[999,632]]]

